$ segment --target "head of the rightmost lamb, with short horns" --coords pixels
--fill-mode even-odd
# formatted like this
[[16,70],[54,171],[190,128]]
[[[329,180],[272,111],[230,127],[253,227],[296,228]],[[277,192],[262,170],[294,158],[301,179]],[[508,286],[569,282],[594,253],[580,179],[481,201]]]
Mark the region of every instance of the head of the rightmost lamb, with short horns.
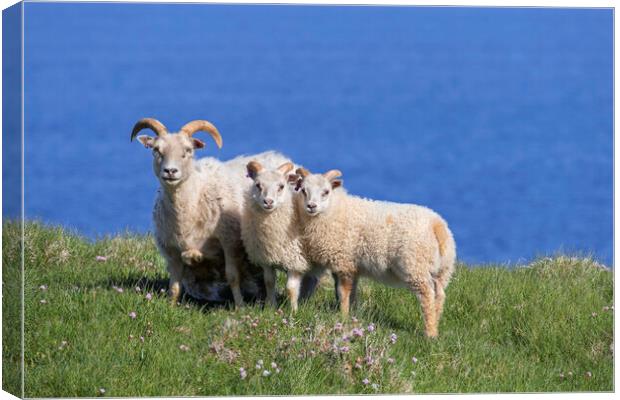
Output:
[[342,186],[337,179],[342,173],[332,169],[324,174],[311,174],[307,169],[297,168],[299,180],[296,189],[301,193],[303,208],[308,215],[315,216],[329,208],[332,192]]

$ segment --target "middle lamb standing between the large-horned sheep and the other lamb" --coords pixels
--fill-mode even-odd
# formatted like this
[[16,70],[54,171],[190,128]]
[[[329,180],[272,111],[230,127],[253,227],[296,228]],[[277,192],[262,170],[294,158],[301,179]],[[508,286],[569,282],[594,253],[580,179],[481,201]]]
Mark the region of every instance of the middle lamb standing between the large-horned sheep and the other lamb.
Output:
[[302,297],[309,296],[322,270],[312,268],[304,255],[294,194],[288,182],[293,168],[291,162],[274,169],[266,169],[258,161],[248,163],[248,176],[254,185],[246,195],[241,237],[250,261],[263,267],[267,302],[276,305],[274,268],[281,268],[287,273],[286,289],[295,312],[300,289]]

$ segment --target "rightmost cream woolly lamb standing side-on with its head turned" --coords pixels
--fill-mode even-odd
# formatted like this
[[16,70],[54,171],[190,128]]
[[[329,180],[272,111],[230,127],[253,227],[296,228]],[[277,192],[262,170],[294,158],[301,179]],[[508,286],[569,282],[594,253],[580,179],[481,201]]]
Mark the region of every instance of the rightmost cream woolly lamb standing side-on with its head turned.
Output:
[[436,337],[456,259],[447,223],[426,207],[349,195],[337,179],[340,171],[296,172],[306,254],[338,277],[341,311],[348,314],[359,275],[404,286],[420,301],[426,335]]

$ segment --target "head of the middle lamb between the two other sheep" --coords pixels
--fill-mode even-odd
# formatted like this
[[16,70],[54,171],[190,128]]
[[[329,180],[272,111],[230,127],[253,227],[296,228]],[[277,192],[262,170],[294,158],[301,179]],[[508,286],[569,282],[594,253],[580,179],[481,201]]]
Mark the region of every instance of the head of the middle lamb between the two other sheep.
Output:
[[[293,169],[290,162],[273,170],[267,170],[258,161],[250,161],[246,166],[248,176],[254,181],[251,195],[255,204],[265,212],[272,212],[289,200],[289,172]],[[296,179],[296,175],[292,175]]]

